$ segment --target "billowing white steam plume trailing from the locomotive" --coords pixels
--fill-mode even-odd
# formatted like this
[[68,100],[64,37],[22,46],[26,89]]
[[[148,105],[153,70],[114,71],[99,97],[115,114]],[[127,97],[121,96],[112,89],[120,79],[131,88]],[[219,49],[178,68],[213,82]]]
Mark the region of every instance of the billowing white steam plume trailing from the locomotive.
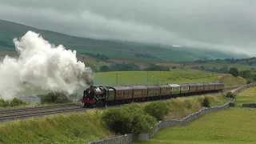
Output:
[[14,38],[14,44],[18,58],[6,55],[0,63],[2,98],[18,97],[28,88],[72,94],[79,86],[92,85],[92,72],[78,62],[75,50],[55,47],[32,31]]

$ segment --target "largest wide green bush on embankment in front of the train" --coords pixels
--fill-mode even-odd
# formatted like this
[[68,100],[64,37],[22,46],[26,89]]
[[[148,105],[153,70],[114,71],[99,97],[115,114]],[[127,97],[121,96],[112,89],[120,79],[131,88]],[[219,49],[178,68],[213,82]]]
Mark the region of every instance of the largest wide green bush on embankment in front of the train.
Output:
[[116,134],[149,132],[156,120],[138,104],[114,107],[103,111],[102,122]]

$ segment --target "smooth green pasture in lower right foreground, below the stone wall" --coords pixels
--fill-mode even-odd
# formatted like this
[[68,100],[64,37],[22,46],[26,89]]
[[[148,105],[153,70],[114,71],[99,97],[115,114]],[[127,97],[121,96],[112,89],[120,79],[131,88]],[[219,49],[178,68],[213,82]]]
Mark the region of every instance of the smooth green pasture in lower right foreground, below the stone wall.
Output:
[[177,144],[255,143],[255,110],[230,108],[206,114],[187,126],[169,127],[144,142]]

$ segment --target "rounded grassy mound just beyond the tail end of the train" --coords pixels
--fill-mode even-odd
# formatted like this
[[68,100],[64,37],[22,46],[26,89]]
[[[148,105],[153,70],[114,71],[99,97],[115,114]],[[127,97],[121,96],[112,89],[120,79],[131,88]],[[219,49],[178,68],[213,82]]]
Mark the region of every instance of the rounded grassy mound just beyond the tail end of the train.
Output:
[[234,77],[231,74],[224,74],[219,78],[219,82],[225,83],[225,88],[244,86],[246,85],[246,79],[242,77]]

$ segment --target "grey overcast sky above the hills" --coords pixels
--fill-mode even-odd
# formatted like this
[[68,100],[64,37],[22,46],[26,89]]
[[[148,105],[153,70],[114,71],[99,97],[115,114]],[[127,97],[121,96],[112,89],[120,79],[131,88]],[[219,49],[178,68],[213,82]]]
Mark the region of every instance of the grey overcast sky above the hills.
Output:
[[0,19],[86,38],[256,55],[256,0],[0,0]]

